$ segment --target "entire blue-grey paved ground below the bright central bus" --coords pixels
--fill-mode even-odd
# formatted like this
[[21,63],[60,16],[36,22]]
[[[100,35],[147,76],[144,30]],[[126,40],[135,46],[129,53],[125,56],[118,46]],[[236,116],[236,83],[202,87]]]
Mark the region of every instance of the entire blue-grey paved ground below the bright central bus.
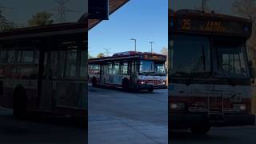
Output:
[[89,86],[90,144],[166,144],[168,90],[152,94]]

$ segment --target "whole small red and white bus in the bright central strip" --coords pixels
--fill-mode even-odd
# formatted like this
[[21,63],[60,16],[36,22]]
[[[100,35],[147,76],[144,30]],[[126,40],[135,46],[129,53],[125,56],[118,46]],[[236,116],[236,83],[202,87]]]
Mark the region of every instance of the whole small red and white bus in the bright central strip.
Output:
[[166,89],[166,56],[127,51],[111,57],[89,59],[93,86],[117,86],[125,90]]

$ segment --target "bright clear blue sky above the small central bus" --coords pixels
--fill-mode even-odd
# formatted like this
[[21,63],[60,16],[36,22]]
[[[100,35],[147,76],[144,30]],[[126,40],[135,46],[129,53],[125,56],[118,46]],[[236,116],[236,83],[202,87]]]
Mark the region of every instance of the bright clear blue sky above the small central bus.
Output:
[[168,46],[168,1],[167,0],[130,0],[108,21],[103,21],[89,31],[89,54],[96,56],[110,51],[116,52],[134,50],[137,39],[137,50],[160,53],[162,47]]

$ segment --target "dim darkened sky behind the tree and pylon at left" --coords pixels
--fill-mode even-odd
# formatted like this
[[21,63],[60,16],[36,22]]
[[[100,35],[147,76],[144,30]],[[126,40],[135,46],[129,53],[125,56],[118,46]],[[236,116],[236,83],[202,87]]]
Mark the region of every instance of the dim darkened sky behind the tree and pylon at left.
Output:
[[[66,13],[66,22],[78,21],[82,14],[86,12],[86,1],[69,0],[66,2],[66,8],[76,11]],[[53,18],[55,21],[57,20],[58,12],[56,10],[58,10],[58,3],[56,0],[0,0],[0,6],[9,8],[2,10],[2,13],[6,16],[7,20],[13,21],[18,25],[26,25],[27,21],[32,18],[32,15],[42,10],[51,12],[54,14]]]

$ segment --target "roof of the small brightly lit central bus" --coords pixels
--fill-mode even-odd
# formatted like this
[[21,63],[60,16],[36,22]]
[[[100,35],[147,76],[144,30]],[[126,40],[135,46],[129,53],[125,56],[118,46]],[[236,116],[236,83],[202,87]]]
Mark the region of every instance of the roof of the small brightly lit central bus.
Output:
[[89,62],[106,62],[106,61],[115,61],[122,59],[130,59],[130,58],[144,58],[147,60],[155,60],[155,61],[166,61],[166,55],[163,54],[155,54],[148,52],[138,52],[138,51],[126,51],[115,53],[110,57],[102,57],[102,58],[90,58]]

